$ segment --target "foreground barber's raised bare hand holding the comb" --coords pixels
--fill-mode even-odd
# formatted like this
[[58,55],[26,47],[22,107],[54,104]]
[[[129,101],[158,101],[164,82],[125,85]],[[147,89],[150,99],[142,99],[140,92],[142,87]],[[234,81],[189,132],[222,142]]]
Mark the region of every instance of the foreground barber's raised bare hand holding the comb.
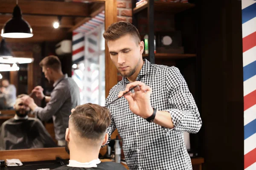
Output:
[[119,92],[118,97],[122,96],[136,85],[139,85],[139,87],[134,88],[134,93],[129,92],[124,97],[129,103],[130,110],[134,114],[146,119],[151,116],[154,111],[150,103],[152,89],[149,86],[139,81],[131,82],[126,86],[125,91]]

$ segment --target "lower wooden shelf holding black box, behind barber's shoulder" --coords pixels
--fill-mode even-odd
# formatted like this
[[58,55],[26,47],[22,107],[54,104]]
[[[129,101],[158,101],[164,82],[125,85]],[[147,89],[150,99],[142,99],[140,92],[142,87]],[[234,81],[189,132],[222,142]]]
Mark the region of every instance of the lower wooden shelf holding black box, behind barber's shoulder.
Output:
[[[142,57],[148,57],[148,54],[143,54]],[[156,53],[156,59],[185,59],[196,57],[195,54],[169,54],[169,53]]]

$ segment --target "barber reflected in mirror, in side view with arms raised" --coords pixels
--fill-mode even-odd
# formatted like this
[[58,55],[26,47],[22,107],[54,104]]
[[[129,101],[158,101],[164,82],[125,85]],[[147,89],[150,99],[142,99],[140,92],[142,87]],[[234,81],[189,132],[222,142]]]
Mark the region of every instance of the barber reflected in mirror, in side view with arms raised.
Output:
[[38,99],[45,100],[47,105],[44,108],[38,107],[29,96],[22,99],[42,121],[52,117],[58,146],[65,146],[65,130],[68,127],[70,111],[80,104],[79,87],[71,77],[62,73],[58,57],[45,57],[39,65],[43,68],[45,78],[53,83],[54,89],[51,96],[45,96],[41,86],[35,87],[32,92]]

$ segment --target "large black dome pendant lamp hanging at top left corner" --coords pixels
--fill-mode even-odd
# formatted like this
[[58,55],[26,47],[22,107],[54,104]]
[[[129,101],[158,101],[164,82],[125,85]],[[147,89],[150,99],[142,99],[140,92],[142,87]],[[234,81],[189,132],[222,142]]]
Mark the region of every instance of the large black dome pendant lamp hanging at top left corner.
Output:
[[13,9],[12,18],[2,28],[1,36],[6,38],[29,38],[33,36],[31,26],[22,18],[18,1]]

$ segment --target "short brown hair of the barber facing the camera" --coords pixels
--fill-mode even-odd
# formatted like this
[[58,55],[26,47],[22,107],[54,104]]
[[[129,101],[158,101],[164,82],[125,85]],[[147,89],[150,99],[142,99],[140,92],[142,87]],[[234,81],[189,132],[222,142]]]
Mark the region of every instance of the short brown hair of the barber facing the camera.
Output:
[[140,43],[140,33],[138,29],[134,25],[126,21],[119,21],[117,23],[111,24],[108,29],[103,33],[103,37],[108,42],[117,40],[127,34],[133,36],[135,40]]

